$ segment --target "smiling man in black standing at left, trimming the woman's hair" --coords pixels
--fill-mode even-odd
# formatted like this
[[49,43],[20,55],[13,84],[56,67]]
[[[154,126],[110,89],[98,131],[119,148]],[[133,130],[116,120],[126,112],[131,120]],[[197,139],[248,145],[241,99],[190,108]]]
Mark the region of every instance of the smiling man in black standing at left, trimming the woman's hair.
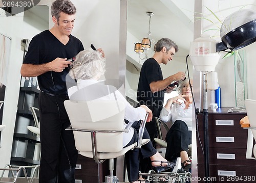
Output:
[[[51,6],[53,27],[34,36],[29,44],[20,73],[37,76],[39,88],[41,158],[39,183],[75,183],[78,151],[63,101],[68,99],[67,59],[73,58],[83,45],[71,35],[76,8],[70,0],[56,0]],[[98,49],[104,57],[102,49]]]

